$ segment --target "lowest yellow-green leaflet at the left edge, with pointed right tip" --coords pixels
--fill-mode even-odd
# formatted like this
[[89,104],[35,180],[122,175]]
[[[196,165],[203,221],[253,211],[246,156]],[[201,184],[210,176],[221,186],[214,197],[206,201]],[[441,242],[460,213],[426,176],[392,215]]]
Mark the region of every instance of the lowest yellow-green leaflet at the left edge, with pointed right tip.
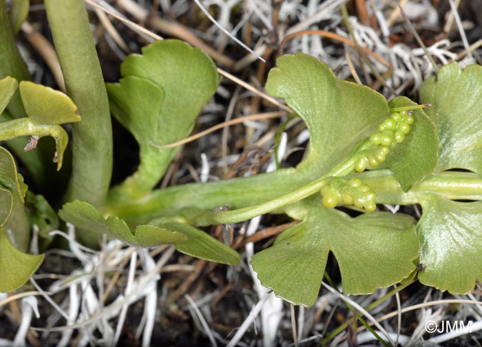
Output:
[[6,231],[0,228],[0,292],[14,291],[21,287],[39,268],[44,255],[34,256],[15,248]]

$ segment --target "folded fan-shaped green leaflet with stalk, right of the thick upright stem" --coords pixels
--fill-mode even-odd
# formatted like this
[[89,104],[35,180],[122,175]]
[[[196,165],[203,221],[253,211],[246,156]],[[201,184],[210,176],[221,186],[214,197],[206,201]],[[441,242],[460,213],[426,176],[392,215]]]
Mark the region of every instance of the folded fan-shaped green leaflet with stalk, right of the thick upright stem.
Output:
[[160,149],[192,131],[218,87],[209,56],[177,40],[156,41],[121,65],[119,83],[107,83],[112,114],[136,138],[140,166],[117,191],[142,197],[154,188],[178,148]]

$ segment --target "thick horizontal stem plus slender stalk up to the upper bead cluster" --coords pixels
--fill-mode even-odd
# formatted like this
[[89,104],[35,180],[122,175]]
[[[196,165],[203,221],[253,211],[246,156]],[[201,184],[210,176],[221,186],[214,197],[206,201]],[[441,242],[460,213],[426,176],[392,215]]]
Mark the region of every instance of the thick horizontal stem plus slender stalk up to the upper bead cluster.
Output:
[[[368,143],[366,146],[372,145]],[[362,145],[359,152],[363,153],[366,146]],[[317,179],[294,169],[283,169],[242,179],[156,190],[138,201],[125,201],[121,196],[111,194],[105,213],[120,216],[132,224],[180,213],[197,225],[238,223],[319,192],[326,177],[348,175],[359,160],[359,152]],[[238,210],[213,210],[224,205]]]

